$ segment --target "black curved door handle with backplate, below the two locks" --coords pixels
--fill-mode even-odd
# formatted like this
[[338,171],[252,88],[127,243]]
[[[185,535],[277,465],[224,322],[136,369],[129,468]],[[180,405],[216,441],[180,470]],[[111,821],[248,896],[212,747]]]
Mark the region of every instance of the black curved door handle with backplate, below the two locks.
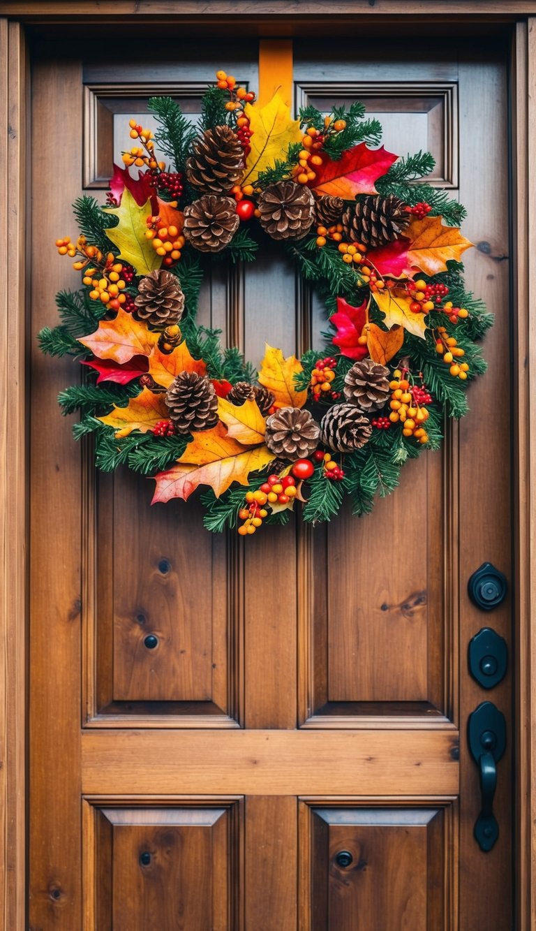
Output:
[[469,749],[478,766],[482,799],[475,823],[475,838],[480,849],[488,853],[499,837],[493,798],[497,789],[496,764],[506,748],[506,721],[499,708],[490,701],[482,702],[469,715],[468,737]]

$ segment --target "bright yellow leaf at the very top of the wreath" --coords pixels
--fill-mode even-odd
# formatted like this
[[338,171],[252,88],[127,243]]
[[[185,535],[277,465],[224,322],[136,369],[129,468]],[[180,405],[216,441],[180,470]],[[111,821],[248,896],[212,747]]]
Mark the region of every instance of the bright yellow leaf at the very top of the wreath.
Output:
[[247,103],[244,115],[248,117],[252,136],[241,183],[254,184],[261,171],[274,166],[276,159],[285,158],[291,142],[301,141],[302,132],[300,120],[291,119],[290,110],[278,93],[263,107]]

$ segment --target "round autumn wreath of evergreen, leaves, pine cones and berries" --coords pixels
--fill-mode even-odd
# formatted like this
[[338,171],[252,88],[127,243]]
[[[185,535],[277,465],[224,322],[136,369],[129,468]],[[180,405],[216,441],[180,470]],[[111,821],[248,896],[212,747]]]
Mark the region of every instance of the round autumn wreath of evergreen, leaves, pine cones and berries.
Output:
[[[81,412],[74,437],[93,434],[100,469],[155,479],[154,502],[206,486],[210,531],[286,523],[296,502],[304,520],[328,520],[345,494],[362,515],[407,459],[439,447],[486,369],[476,340],[491,317],[464,290],[464,210],[417,182],[432,155],[378,147],[360,103],[292,119],[278,94],[261,107],[216,76],[197,126],[152,98],[157,128],[129,121],[107,204],[74,203],[80,236],[56,245],[83,287],[60,291],[60,325],[39,334],[44,352],[84,366],[60,405]],[[266,236],[328,323],[323,352],[268,344],[257,372],[195,314],[210,264],[252,262]]]

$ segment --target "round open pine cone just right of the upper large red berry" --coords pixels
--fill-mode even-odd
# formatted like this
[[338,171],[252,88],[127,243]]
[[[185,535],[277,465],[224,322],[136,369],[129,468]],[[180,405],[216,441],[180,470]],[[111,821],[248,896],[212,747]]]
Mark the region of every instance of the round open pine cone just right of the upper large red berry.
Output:
[[269,184],[259,197],[259,223],[273,239],[302,239],[315,222],[315,196],[306,184]]

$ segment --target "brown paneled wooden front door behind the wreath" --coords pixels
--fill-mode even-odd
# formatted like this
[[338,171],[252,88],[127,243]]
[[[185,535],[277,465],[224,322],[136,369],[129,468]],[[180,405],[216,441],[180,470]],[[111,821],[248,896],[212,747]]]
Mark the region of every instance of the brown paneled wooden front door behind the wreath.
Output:
[[[496,323],[470,414],[371,515],[244,545],[94,470],[56,407],[73,363],[34,334],[77,287],[53,242],[83,189],[103,198],[121,124],[160,91],[194,114],[218,67],[256,87],[258,47],[101,38],[33,47],[30,927],[505,931],[511,672],[486,692],[467,649],[487,624],[511,643],[511,601],[483,614],[467,580],[512,561],[506,51],[295,41],[297,103],[359,98],[387,148],[436,155]],[[267,337],[301,351],[322,328],[280,259],[222,265],[200,315],[255,362]],[[508,737],[483,853],[466,727],[487,699]]]

